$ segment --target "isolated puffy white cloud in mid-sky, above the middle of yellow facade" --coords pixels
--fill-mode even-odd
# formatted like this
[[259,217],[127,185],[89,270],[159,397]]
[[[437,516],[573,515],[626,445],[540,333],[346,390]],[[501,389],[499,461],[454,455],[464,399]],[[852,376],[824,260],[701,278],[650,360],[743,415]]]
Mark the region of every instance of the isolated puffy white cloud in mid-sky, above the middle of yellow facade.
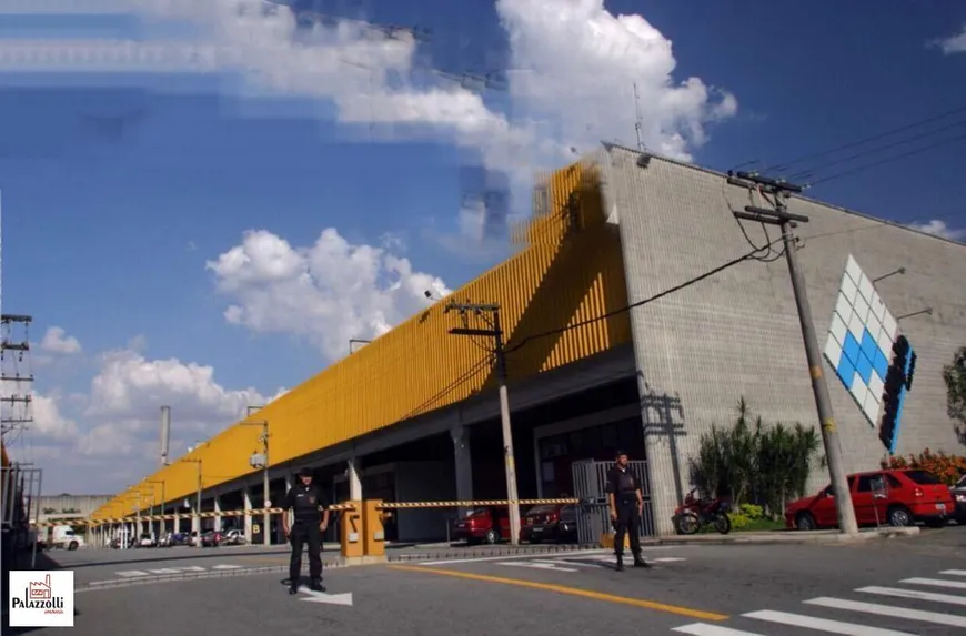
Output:
[[334,229],[314,244],[293,248],[261,230],[208,262],[218,291],[231,300],[228,322],[262,333],[305,337],[330,360],[350,339],[370,340],[450,293],[443,281],[413,271],[405,258],[353,245]]

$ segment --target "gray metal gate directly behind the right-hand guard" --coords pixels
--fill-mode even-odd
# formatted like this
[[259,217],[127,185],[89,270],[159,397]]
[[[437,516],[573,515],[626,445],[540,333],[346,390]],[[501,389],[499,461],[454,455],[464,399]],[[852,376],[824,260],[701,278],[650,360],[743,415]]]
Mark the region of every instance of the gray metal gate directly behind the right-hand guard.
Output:
[[[612,533],[611,513],[607,506],[607,471],[616,462],[598,462],[581,460],[572,465],[574,477],[574,497],[581,503],[577,506],[577,539],[582,544],[595,544],[601,535]],[[647,478],[647,462],[628,462],[630,471],[641,482],[644,495],[644,514],[637,528],[640,536],[654,535],[654,512],[651,504],[651,482]]]

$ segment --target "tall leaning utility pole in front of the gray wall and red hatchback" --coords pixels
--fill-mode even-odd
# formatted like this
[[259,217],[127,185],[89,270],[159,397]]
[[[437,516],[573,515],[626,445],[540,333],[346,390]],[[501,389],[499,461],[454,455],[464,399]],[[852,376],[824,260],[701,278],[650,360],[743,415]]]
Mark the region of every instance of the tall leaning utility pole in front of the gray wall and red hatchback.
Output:
[[843,534],[857,535],[858,524],[855,509],[852,507],[852,495],[848,492],[848,481],[842,464],[842,446],[838,431],[835,426],[835,414],[832,411],[832,398],[828,395],[828,383],[823,372],[822,354],[818,349],[818,337],[815,334],[815,323],[812,321],[812,305],[805,290],[805,274],[798,263],[798,244],[794,229],[798,223],[807,223],[808,216],[792,214],[785,205],[785,199],[793,193],[802,192],[802,186],[776,181],[748,172],[728,172],[728,183],[742,188],[758,188],[763,194],[773,196],[775,210],[746,205],[744,212],[735,212],[737,219],[756,221],[782,229],[785,245],[785,256],[788,261],[788,273],[792,276],[792,290],[795,293],[795,304],[798,307],[798,322],[802,325],[802,339],[805,341],[805,357],[808,361],[808,372],[812,377],[812,392],[818,411],[822,441],[825,445],[825,457],[828,464],[828,476],[832,492],[835,493],[835,508],[838,514],[838,527]]

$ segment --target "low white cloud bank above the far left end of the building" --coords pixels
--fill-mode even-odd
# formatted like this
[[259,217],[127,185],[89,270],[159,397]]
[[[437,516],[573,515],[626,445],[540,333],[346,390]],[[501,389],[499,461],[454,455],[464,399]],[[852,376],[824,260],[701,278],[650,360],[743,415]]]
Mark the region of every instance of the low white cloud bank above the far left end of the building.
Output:
[[[139,343],[143,346],[142,339]],[[266,397],[254,388],[230,390],[217,382],[211,366],[111,351],[100,356],[89,395],[34,393],[22,453],[43,460],[47,492],[113,492],[158,465],[162,405],[171,406],[169,456],[177,457],[242,418],[248,406],[285,392]],[[98,462],[110,463],[111,471],[89,470]]]

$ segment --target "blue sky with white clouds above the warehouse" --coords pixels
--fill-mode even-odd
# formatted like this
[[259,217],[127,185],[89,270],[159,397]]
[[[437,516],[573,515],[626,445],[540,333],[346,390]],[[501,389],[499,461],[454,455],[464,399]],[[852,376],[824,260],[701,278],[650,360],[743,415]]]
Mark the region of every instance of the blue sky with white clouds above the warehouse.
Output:
[[966,4],[0,0],[4,443],[47,494],[124,488],[162,405],[178,456],[512,254],[536,175],[638,122],[964,240]]

